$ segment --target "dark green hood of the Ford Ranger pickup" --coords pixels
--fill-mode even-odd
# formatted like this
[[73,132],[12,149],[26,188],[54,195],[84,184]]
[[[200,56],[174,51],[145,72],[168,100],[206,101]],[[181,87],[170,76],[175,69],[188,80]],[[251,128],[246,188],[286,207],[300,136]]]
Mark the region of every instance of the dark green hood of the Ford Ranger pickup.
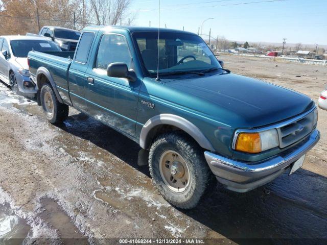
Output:
[[228,125],[234,121],[238,127],[266,126],[314,106],[304,94],[236,74],[166,80],[165,84],[194,98],[194,103],[188,101],[185,107],[205,112]]

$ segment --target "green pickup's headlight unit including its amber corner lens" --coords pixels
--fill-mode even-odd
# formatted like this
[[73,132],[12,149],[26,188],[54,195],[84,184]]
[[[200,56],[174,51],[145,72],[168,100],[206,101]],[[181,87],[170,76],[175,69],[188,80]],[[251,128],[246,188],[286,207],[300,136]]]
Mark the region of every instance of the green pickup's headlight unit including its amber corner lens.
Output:
[[276,129],[262,132],[241,132],[236,135],[235,150],[246,153],[260,153],[279,145]]

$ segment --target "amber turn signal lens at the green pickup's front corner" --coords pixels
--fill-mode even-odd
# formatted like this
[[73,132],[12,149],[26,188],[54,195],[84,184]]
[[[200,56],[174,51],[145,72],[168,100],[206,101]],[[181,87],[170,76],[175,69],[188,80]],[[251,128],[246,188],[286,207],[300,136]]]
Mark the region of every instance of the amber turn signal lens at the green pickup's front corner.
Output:
[[235,150],[247,153],[261,152],[261,139],[259,133],[240,133]]

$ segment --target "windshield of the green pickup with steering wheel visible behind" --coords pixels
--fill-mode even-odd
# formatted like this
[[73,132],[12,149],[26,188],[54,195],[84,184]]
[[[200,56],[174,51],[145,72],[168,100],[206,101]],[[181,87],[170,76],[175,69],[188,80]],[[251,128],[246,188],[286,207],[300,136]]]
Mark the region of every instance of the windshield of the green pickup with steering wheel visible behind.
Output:
[[160,32],[135,32],[143,64],[151,76],[157,73],[159,44],[159,74],[178,74],[222,68],[206,43],[197,35]]

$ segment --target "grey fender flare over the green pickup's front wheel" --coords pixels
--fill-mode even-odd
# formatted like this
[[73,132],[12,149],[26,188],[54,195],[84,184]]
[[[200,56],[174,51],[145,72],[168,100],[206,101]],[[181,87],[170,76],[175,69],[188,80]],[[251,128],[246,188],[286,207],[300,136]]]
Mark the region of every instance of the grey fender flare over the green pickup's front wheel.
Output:
[[154,136],[152,129],[159,125],[171,125],[177,127],[194,138],[202,148],[215,152],[213,145],[203,135],[198,127],[196,127],[194,124],[192,124],[192,122],[186,120],[185,118],[174,114],[156,115],[146,122],[139,136],[139,145],[143,149],[148,149],[150,147],[150,142]]

